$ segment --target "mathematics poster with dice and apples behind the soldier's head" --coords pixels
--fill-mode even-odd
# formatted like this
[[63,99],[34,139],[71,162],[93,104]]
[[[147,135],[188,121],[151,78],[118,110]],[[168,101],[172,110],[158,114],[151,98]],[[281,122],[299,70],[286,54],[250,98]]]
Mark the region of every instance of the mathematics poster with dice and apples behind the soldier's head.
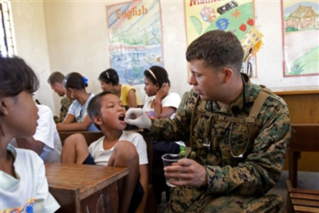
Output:
[[254,27],[255,11],[253,0],[184,0],[187,44],[211,30],[234,33],[241,41],[245,53],[253,57],[250,63],[256,77],[255,55],[261,47],[263,35]]

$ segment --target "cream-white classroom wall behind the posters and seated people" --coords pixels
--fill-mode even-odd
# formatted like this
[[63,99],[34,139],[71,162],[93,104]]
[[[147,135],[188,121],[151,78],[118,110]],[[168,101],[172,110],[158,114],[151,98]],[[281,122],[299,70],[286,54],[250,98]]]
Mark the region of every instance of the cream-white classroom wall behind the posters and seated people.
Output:
[[[97,78],[110,67],[106,5],[115,3],[120,1],[13,3],[18,54],[41,73],[41,89],[37,95],[49,106],[54,100],[56,113],[60,97],[52,96],[53,91],[46,83],[48,70],[64,74],[80,72],[89,79],[87,91],[95,94],[101,91]],[[264,46],[257,53],[257,78],[252,81],[270,88],[318,86],[318,76],[283,78],[280,1],[255,0],[255,11],[256,28],[264,35]],[[164,66],[172,82],[172,91],[182,95],[190,89],[185,59],[184,3],[162,0],[161,12]]]

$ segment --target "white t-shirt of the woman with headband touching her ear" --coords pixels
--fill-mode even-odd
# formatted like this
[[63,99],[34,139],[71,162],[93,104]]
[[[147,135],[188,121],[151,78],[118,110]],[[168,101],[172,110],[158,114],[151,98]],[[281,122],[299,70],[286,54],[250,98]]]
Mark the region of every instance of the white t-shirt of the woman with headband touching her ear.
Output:
[[[154,98],[155,96],[143,106],[143,111],[145,111],[150,118],[155,118],[154,108],[152,108]],[[161,101],[162,107],[174,107],[175,109],[178,108],[180,103],[181,97],[177,93],[168,93]],[[175,113],[173,113],[170,118],[174,118],[174,115]]]

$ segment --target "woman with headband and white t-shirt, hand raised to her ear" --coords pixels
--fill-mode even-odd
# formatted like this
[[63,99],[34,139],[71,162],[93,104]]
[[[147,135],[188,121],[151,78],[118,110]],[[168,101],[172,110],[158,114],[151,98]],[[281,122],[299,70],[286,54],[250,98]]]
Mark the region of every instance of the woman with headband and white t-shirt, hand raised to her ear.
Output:
[[[163,67],[152,66],[144,71],[145,93],[153,98],[144,105],[143,110],[149,118],[173,118],[181,97],[177,93],[170,93],[170,81]],[[180,151],[182,141],[157,141],[153,139],[152,179],[157,204],[161,203],[161,194],[167,189],[164,176],[162,155]]]

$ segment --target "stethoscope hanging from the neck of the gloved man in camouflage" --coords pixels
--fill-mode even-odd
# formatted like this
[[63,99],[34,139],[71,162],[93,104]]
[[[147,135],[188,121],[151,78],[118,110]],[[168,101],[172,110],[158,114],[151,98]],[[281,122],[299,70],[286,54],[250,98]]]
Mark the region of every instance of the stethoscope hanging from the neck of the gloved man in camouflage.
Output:
[[[235,118],[238,114],[242,113],[242,112],[246,112],[247,114],[249,114],[249,111],[246,109],[246,86],[245,86],[245,80],[244,80],[244,77],[241,76],[241,80],[242,80],[242,83],[243,83],[243,86],[244,86],[244,92],[243,92],[243,100],[244,100],[244,103],[243,103],[243,107],[241,110],[239,110],[238,112],[236,112],[232,117]],[[195,106],[197,106],[197,103],[198,103],[198,100],[199,98],[196,100],[196,103],[195,103]],[[197,107],[194,108],[194,112],[193,114],[195,113],[195,109]],[[192,131],[193,131],[193,117],[192,116],[192,119],[191,119],[191,138],[190,138],[190,141],[192,142]],[[211,122],[212,122],[212,117],[210,117],[208,120],[207,120],[207,123],[206,123],[206,127],[205,127],[205,133],[204,133],[204,143],[203,143],[203,146],[204,147],[207,147],[208,149],[210,148],[211,146],[211,140],[209,140],[208,138],[208,135],[211,135]],[[246,142],[246,146],[244,148],[244,151],[239,154],[239,155],[234,155],[233,153],[233,150],[232,150],[232,129],[233,129],[233,125],[234,125],[234,121],[231,121],[230,123],[230,127],[229,127],[229,135],[228,135],[228,145],[229,145],[229,150],[230,150],[230,154],[234,157],[234,158],[242,158],[248,148],[248,145],[249,145],[249,140],[250,140],[250,133],[249,133],[249,137],[248,137],[248,140]]]

